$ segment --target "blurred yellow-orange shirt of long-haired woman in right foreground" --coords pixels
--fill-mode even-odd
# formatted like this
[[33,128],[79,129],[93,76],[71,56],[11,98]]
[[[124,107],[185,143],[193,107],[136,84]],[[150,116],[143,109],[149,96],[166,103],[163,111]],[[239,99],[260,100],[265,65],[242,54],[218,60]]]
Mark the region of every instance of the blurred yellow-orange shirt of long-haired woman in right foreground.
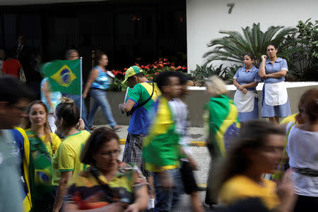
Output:
[[235,175],[221,187],[220,202],[223,204],[234,204],[240,199],[259,197],[267,208],[276,208],[280,204],[276,194],[276,183],[271,180],[262,180],[264,186],[257,184],[257,182],[244,175]]

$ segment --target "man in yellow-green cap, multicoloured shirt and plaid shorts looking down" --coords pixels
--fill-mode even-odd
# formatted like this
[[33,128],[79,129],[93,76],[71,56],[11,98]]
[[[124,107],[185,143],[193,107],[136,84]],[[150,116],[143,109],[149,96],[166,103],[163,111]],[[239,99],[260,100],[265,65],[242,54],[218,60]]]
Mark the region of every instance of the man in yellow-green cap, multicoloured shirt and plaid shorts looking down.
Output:
[[[146,137],[148,127],[148,111],[151,110],[155,100],[161,95],[160,89],[154,82],[149,81],[138,66],[131,66],[126,70],[125,80],[131,92],[126,96],[125,104],[120,104],[119,109],[130,112],[131,118],[128,127],[128,136],[124,149],[123,160],[125,163],[135,163],[146,176],[147,182],[153,185],[153,173],[145,169],[142,158],[143,139]],[[148,204],[148,209],[154,206],[154,194]]]

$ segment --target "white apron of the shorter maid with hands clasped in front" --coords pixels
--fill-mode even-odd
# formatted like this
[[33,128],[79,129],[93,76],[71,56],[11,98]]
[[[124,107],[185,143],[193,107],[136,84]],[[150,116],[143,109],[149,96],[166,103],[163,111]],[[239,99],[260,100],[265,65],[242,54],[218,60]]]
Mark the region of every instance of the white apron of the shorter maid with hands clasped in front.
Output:
[[236,90],[234,94],[234,104],[240,113],[249,113],[254,109],[255,91],[247,90],[247,93]]

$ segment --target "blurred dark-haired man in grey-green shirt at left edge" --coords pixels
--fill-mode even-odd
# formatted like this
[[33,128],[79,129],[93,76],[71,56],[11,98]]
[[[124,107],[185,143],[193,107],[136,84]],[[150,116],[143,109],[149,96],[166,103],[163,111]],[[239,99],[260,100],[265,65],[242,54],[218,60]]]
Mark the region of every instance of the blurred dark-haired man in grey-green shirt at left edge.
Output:
[[15,77],[0,77],[0,211],[23,211],[20,153],[10,129],[20,123],[30,96]]

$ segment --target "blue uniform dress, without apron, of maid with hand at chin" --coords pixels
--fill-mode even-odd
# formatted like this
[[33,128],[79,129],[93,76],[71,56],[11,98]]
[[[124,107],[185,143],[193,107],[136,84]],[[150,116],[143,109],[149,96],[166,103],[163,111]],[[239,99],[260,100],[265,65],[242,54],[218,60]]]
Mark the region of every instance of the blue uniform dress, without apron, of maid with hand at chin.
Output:
[[[271,63],[269,59],[266,60],[265,62],[266,74],[277,73],[277,72],[280,72],[281,70],[288,71],[287,61],[285,59],[277,58],[274,63]],[[287,97],[287,102],[285,104],[280,104],[277,106],[270,106],[266,104],[266,101],[265,101],[265,96],[266,96],[265,85],[266,84],[271,85],[273,83],[284,82],[284,81],[285,81],[285,77],[279,77],[279,78],[269,77],[264,80],[263,92],[261,94],[261,117],[273,117],[273,116],[286,117],[291,114],[288,97]]]

